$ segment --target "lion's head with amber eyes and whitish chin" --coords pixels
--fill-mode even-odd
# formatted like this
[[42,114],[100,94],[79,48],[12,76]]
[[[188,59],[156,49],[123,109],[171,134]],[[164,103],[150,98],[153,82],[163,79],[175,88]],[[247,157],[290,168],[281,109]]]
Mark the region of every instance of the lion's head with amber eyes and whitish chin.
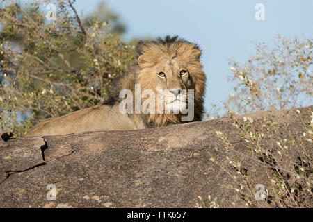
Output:
[[138,48],[137,83],[141,84],[141,90],[151,89],[158,96],[161,94],[164,110],[182,112],[188,104],[189,89],[194,92],[194,101],[189,103],[202,103],[205,75],[200,63],[201,51],[195,44],[142,42]]

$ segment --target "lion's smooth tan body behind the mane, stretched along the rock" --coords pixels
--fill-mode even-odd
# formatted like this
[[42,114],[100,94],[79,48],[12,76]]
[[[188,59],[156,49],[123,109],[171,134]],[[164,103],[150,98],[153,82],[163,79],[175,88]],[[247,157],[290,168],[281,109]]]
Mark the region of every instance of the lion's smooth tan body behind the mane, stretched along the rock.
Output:
[[38,123],[26,136],[66,135],[86,131],[136,130],[145,125],[136,115],[121,114],[116,105],[98,105]]

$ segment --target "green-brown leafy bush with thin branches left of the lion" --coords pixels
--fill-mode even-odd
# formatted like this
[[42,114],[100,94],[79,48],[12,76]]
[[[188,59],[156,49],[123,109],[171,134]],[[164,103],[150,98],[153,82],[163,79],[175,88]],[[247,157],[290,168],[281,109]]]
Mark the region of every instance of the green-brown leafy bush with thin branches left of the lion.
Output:
[[133,61],[133,45],[111,32],[110,18],[81,21],[72,2],[57,4],[51,22],[40,1],[0,7],[0,124],[17,136],[42,119],[101,104]]

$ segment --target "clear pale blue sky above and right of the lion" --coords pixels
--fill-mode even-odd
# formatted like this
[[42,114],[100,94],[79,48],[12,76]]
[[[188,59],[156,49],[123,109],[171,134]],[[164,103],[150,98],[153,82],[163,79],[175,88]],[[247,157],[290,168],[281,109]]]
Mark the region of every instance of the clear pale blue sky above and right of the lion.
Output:
[[[86,15],[99,0],[77,0],[74,6]],[[205,106],[220,103],[232,93],[229,60],[246,62],[254,43],[284,37],[313,37],[313,1],[191,1],[191,0],[106,0],[127,26],[125,40],[140,37],[179,35],[196,42],[203,50],[207,74]],[[255,19],[255,5],[265,6],[265,20]]]

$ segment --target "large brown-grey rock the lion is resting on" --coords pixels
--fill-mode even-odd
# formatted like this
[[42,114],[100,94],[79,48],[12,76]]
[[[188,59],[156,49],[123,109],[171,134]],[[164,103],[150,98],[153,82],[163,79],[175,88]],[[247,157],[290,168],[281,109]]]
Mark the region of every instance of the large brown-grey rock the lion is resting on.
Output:
[[[250,127],[262,127],[271,114],[280,129],[273,134],[299,137],[311,110],[251,114]],[[0,207],[246,207],[249,197],[231,177],[240,173],[227,166],[227,157],[241,160],[243,175],[266,189],[271,169],[253,158],[256,153],[233,124],[238,118],[1,141]],[[282,129],[286,123],[291,131]],[[262,146],[275,143],[268,136]],[[312,151],[312,142],[304,144]],[[297,147],[289,148],[294,158]],[[48,185],[56,186],[55,201],[47,199]]]

